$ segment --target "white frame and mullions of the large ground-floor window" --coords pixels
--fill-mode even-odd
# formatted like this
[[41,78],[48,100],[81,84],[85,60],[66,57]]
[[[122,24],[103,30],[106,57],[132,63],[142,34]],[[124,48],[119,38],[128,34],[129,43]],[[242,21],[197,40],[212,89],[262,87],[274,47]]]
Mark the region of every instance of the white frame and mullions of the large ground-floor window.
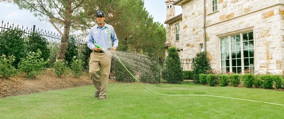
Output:
[[[229,33],[225,33],[225,34],[221,34],[221,35],[216,35],[216,47],[219,49],[219,53],[216,55],[216,60],[218,61],[217,62],[217,66],[219,65],[219,68],[220,70],[222,71],[222,68],[221,68],[221,65],[222,65],[222,62],[221,62],[221,38],[224,38],[224,37],[228,37],[229,38],[229,61],[230,61],[230,70],[229,71],[232,71],[232,51],[231,51],[231,36],[233,35],[240,35],[240,43],[241,43],[241,65],[242,65],[242,72],[241,73],[244,73],[244,54],[243,54],[243,37],[242,37],[242,34],[244,33],[248,33],[248,32],[253,32],[253,38],[254,38],[254,71],[257,70],[257,64],[256,64],[256,38],[255,38],[255,35],[256,35],[256,32],[254,30],[254,27],[249,27],[249,28],[246,28],[246,29],[241,29],[241,30],[238,30],[238,31],[234,31],[234,32],[229,32]],[[229,37],[230,36],[230,37]],[[218,46],[217,46],[218,45]],[[250,48],[251,49],[251,48]]]

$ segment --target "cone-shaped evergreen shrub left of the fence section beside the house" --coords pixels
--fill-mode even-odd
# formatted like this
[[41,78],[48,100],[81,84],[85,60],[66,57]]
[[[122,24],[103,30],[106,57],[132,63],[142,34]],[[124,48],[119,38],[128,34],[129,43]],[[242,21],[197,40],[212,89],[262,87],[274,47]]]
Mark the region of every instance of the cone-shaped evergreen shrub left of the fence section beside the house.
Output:
[[168,56],[162,70],[162,78],[169,83],[180,83],[183,81],[181,61],[178,56],[178,51],[175,47],[168,48]]

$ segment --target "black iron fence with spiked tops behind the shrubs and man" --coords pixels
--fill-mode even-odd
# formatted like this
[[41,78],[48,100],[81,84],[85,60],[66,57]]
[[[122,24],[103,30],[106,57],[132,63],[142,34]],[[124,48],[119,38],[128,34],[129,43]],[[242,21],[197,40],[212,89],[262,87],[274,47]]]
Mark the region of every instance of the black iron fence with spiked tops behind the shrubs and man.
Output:
[[[39,34],[41,34],[43,37],[45,37],[48,42],[48,48],[50,49],[50,54],[49,54],[49,60],[50,60],[50,65],[52,66],[52,64],[56,61],[56,56],[58,54],[58,50],[59,50],[59,45],[61,42],[61,35],[59,33],[55,33],[55,32],[50,32],[50,31],[46,31],[46,30],[42,30],[42,29],[35,29],[35,25],[33,25],[33,27],[25,27],[24,26],[19,26],[19,25],[14,25],[14,24],[9,24],[9,22],[6,24],[4,23],[4,21],[2,20],[2,24],[1,24],[1,30],[5,30],[5,29],[14,29],[14,28],[18,28],[21,29],[22,31],[25,32],[25,34],[23,35],[23,37],[27,37],[28,35],[30,35],[32,32],[37,32]],[[90,53],[91,50],[88,48],[87,43],[85,40],[76,38],[75,39],[75,45],[77,46],[77,51],[78,51],[78,58],[83,60],[83,67],[87,69],[88,67],[88,58],[90,57]],[[186,59],[181,59],[181,66],[183,68],[183,75],[184,75],[184,80],[182,81],[182,83],[189,83],[189,82],[193,82],[193,62],[194,59],[193,58],[186,58]],[[164,66],[164,62],[165,59],[164,58],[159,58],[159,64],[163,67]],[[111,72],[109,74],[109,79],[115,79],[115,72],[114,72],[114,68],[115,68],[115,64],[116,62],[114,60],[112,60],[112,65],[111,65]],[[138,73],[135,74],[135,76],[139,79]],[[167,83],[167,80],[162,79],[160,77],[160,83]]]

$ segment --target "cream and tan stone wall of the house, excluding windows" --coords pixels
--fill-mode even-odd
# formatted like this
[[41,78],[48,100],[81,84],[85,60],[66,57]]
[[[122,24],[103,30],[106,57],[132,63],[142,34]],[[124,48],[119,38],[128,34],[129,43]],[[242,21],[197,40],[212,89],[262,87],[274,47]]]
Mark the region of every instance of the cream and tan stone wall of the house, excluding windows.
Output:
[[[280,3],[283,4],[284,0],[219,0],[219,11],[207,15],[206,1],[206,46],[211,67],[219,69],[217,35],[253,27],[256,70],[282,71],[284,6],[278,5],[261,10]],[[183,51],[180,51],[180,58],[193,58],[200,51],[199,44],[204,41],[203,1],[191,0],[183,4],[182,13],[180,41],[171,40],[171,44],[183,48]],[[176,23],[170,26],[172,37],[175,37]]]

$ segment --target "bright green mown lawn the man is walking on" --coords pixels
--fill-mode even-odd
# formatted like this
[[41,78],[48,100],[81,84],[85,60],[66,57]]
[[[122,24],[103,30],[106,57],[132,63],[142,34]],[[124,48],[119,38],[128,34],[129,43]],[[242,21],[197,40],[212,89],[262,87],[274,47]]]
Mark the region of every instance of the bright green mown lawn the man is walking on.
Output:
[[[284,92],[240,87],[145,84],[162,94],[218,95],[284,104]],[[284,106],[201,96],[161,96],[140,84],[109,83],[105,100],[94,86],[0,98],[0,118],[284,118]]]

